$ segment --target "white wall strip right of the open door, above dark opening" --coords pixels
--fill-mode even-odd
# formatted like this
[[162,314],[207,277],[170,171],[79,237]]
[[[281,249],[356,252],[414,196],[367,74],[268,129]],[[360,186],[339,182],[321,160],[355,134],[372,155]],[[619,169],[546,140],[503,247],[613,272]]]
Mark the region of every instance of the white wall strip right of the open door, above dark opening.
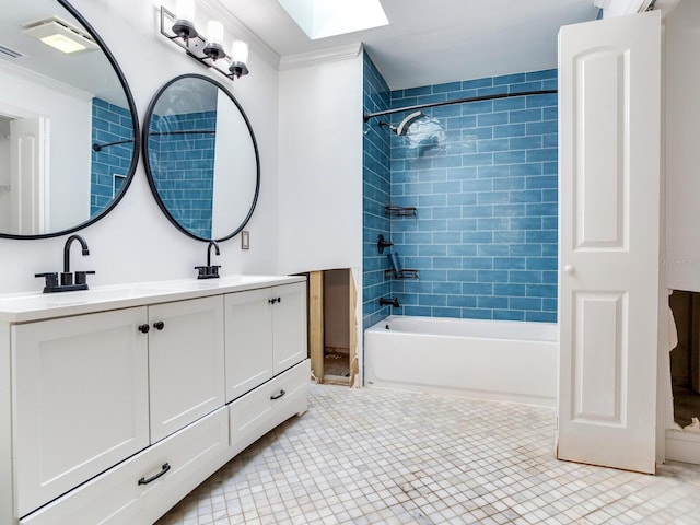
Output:
[[666,18],[666,287],[700,291],[700,2]]

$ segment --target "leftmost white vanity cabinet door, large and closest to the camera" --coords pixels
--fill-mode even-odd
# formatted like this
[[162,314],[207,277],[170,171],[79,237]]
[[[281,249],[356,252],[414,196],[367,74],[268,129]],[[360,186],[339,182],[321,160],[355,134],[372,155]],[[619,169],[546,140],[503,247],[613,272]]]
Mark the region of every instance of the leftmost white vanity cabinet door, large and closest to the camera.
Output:
[[12,327],[15,511],[149,444],[145,307]]

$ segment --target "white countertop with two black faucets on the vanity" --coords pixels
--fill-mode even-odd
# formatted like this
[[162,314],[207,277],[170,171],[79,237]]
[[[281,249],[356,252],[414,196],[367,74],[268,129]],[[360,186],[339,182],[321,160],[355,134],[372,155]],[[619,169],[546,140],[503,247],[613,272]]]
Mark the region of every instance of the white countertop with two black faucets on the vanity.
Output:
[[74,292],[0,294],[0,320],[31,320],[81,315],[107,310],[183,301],[257,288],[303,282],[300,276],[222,276],[219,279],[184,279],[94,287]]

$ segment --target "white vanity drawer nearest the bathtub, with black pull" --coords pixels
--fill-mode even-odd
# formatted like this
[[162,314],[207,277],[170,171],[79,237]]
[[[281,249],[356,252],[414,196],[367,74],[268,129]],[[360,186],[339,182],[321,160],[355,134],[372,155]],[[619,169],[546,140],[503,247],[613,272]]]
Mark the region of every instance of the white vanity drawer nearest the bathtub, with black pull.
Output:
[[306,359],[231,402],[231,454],[240,453],[295,413],[305,412],[310,377],[311,361]]

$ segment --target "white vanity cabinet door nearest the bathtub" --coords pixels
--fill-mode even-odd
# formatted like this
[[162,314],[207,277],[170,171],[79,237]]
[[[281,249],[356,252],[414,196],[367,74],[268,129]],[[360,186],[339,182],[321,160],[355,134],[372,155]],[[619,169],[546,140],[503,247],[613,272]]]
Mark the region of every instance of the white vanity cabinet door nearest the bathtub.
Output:
[[300,363],[308,353],[306,345],[306,283],[295,282],[272,289],[272,334],[275,374]]

